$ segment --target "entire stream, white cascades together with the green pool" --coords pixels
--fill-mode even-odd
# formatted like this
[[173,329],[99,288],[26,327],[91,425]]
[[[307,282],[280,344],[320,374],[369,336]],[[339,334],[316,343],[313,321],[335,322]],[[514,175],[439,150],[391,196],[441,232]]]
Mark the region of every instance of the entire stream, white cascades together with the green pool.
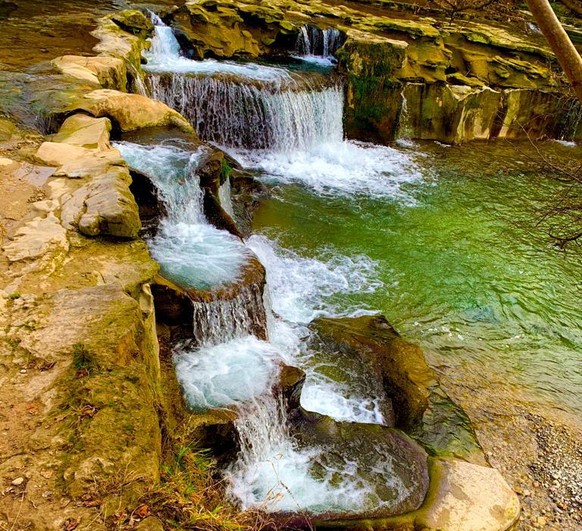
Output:
[[[144,68],[152,95],[272,191],[253,236],[241,242],[204,219],[196,177],[203,148],[116,144],[167,205],[148,243],[168,278],[212,289],[236,283],[253,255],[266,268],[264,302],[241,292],[200,308],[195,314],[209,332],[175,352],[193,410],[239,412],[241,452],[225,478],[241,508],[349,513],[397,507],[410,495],[381,448],[373,462],[329,463],[322,449],[291,437],[272,393],[281,363],[306,372],[306,410],[386,424],[378,382],[349,364],[349,378],[334,380],[328,362],[307,347],[307,326],[320,316],[383,313],[440,366],[469,364],[484,378],[505,380],[508,395],[512,386],[525,387],[534,401],[582,413],[581,255],[540,250],[522,223],[554,192],[552,182],[540,178],[534,188],[507,146],[345,140],[333,33],[317,45],[301,34],[302,69],[190,61],[171,30],[156,23]],[[249,333],[248,308],[259,304],[268,341]]]

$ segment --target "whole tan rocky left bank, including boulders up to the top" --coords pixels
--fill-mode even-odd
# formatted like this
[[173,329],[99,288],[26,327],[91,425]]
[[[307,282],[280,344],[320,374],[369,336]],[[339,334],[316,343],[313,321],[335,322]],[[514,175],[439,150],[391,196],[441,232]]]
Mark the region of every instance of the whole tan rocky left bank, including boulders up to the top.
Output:
[[135,11],[108,17],[99,56],[57,58],[54,85],[31,85],[56,134],[0,118],[0,525],[13,529],[128,520],[160,479],[163,426],[179,409],[162,387],[158,264],[110,144],[112,132],[192,131],[165,105],[117,90],[149,26]]

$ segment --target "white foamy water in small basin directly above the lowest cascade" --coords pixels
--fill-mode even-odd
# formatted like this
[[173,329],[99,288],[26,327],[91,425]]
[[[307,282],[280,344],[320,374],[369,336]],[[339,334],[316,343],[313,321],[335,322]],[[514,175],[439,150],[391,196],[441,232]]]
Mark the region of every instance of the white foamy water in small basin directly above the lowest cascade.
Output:
[[273,345],[253,336],[174,356],[178,381],[196,411],[239,405],[268,393],[279,361]]

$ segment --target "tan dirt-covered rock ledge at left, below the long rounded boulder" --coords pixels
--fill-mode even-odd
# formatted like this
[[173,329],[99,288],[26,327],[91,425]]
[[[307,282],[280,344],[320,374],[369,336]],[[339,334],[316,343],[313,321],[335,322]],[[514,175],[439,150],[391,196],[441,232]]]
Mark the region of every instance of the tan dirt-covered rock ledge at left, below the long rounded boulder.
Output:
[[149,288],[158,265],[142,241],[86,238],[63,219],[76,192],[86,212],[111,221],[115,209],[95,183],[118,208],[116,184],[103,180],[112,171],[127,191],[110,127],[75,115],[40,150],[46,159],[0,158],[0,189],[12,197],[0,202],[0,521],[19,528],[110,529],[159,480],[161,373]]

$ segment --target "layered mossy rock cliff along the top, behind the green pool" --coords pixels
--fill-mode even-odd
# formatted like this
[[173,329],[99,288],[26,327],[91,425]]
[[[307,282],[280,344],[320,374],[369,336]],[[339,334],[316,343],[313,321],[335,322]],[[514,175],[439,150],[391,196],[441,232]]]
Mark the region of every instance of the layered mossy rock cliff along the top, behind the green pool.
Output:
[[288,0],[187,2],[165,19],[196,58],[277,55],[293,49],[303,26],[336,28],[351,138],[459,143],[582,135],[580,107],[553,54],[525,24],[449,23],[392,4]]

